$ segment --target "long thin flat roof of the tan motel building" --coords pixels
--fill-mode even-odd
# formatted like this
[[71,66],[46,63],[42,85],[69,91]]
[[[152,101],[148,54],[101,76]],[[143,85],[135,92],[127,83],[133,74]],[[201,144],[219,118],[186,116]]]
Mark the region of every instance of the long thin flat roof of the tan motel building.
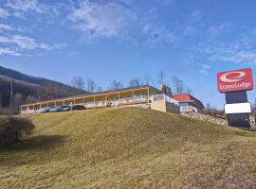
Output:
[[37,102],[30,103],[30,104],[23,104],[21,106],[29,106],[29,105],[38,104],[38,103],[47,103],[47,102],[52,102],[52,101],[59,101],[59,100],[73,99],[73,98],[79,98],[79,97],[86,97],[86,96],[91,96],[91,95],[114,94],[114,93],[132,91],[132,90],[138,90],[138,89],[144,89],[144,88],[150,88],[150,89],[152,89],[152,90],[154,90],[158,93],[161,93],[158,89],[155,89],[155,87],[152,87],[150,85],[141,85],[141,86],[128,87],[128,88],[122,88],[122,89],[117,89],[117,90],[103,91],[103,92],[99,92],[99,93],[80,94],[80,95],[68,96],[68,97],[57,98],[57,99],[49,99],[49,100],[46,100],[46,101],[37,101]]

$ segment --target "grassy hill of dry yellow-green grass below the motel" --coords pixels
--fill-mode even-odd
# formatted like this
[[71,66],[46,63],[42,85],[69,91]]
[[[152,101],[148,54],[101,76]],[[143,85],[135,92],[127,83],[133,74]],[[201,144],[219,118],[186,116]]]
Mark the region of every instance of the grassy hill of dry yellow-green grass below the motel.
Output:
[[2,188],[253,188],[256,135],[137,108],[31,115]]

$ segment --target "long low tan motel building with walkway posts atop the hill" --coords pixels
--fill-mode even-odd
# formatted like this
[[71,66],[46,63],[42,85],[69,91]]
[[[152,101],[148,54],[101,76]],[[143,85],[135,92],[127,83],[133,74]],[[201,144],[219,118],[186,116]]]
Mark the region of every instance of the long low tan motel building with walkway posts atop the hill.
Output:
[[180,103],[172,96],[171,88],[161,85],[158,90],[150,85],[143,85],[25,104],[21,106],[21,114],[41,113],[46,108],[74,105],[82,105],[85,110],[137,106],[160,112],[180,113]]

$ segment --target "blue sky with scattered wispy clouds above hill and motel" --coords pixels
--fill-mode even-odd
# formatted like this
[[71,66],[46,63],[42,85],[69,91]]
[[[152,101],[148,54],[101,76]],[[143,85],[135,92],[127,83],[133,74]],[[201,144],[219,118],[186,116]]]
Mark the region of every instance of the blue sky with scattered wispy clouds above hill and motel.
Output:
[[[255,0],[0,0],[0,65],[70,84],[157,73],[222,109],[216,74],[256,76]],[[254,102],[256,92],[247,92]]]

